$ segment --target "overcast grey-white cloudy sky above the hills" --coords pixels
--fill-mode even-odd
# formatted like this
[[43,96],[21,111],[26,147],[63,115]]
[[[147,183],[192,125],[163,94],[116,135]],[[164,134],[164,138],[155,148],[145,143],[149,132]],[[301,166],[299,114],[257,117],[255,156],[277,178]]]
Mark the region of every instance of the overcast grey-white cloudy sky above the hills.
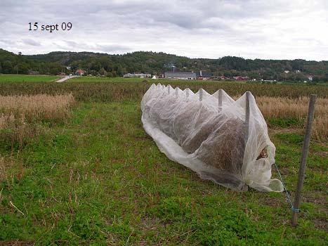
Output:
[[[72,30],[40,30],[62,22]],[[328,60],[328,1],[1,0],[0,48]]]

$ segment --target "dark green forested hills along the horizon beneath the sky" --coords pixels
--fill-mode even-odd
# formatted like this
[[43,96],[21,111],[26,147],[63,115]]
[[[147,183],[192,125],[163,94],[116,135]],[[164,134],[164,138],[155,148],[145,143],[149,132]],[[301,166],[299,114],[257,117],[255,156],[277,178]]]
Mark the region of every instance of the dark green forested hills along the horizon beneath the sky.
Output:
[[[58,74],[88,70],[93,75],[122,76],[126,72],[147,72],[162,74],[171,71],[199,70],[213,75],[248,76],[256,79],[287,79],[303,81],[313,75],[314,81],[328,81],[328,60],[261,60],[224,56],[218,59],[187,58],[166,53],[138,51],[124,55],[110,55],[92,52],[56,51],[48,54],[25,56],[14,54],[0,48],[0,73],[2,74]],[[67,67],[71,67],[67,70]],[[284,72],[288,71],[288,72]]]

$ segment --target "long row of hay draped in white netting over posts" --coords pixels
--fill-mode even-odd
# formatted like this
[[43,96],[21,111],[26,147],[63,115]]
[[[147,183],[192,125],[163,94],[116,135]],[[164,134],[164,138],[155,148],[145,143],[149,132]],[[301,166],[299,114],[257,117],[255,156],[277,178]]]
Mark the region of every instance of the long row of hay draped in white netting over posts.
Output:
[[236,190],[283,190],[271,179],[275,145],[251,93],[234,101],[223,90],[211,95],[152,84],[141,109],[143,127],[159,149],[202,179]]

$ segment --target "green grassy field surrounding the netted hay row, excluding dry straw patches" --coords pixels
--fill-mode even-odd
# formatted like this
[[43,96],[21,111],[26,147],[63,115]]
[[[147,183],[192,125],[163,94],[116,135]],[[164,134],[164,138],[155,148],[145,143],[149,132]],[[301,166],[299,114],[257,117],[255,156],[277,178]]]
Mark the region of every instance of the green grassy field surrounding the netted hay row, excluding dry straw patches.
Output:
[[[215,89],[213,84],[202,87],[206,85]],[[239,84],[216,86],[222,85],[235,89],[235,95],[244,90]],[[71,117],[57,124],[41,122],[42,133],[24,146],[0,141],[0,240],[37,245],[327,242],[327,143],[311,142],[299,226],[292,228],[284,193],[237,193],[202,181],[160,153],[140,122],[140,98],[148,86],[0,85],[2,95],[72,92],[78,101]],[[254,93],[271,93],[271,88],[265,85]],[[282,95],[296,93],[290,87],[275,88]],[[320,87],[305,88],[328,97]],[[280,123],[270,128],[270,138],[294,195],[303,136],[300,129]]]

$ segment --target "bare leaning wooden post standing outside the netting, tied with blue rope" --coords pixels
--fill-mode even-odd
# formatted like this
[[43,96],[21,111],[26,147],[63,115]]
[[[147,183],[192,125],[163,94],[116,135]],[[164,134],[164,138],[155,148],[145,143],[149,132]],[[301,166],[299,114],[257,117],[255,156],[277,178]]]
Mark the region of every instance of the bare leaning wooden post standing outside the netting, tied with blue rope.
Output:
[[301,163],[299,165],[299,180],[297,181],[297,188],[294,200],[294,209],[291,216],[291,225],[297,226],[297,216],[299,212],[299,207],[301,205],[301,190],[304,183],[304,176],[306,174],[306,159],[308,158],[308,148],[310,145],[310,136],[312,132],[313,117],[315,115],[315,101],[317,100],[317,95],[310,96],[310,103],[308,105],[308,118],[306,119],[306,134],[304,136]]

